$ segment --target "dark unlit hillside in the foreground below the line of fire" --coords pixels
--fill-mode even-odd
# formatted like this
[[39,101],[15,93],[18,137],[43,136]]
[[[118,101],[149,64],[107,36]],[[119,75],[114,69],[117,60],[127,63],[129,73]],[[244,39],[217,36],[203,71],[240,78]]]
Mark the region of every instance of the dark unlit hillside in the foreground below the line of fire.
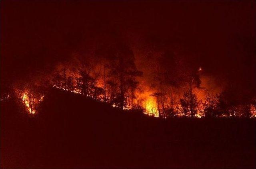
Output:
[[1,168],[255,168],[255,119],[159,120],[52,90],[35,117],[1,103]]

